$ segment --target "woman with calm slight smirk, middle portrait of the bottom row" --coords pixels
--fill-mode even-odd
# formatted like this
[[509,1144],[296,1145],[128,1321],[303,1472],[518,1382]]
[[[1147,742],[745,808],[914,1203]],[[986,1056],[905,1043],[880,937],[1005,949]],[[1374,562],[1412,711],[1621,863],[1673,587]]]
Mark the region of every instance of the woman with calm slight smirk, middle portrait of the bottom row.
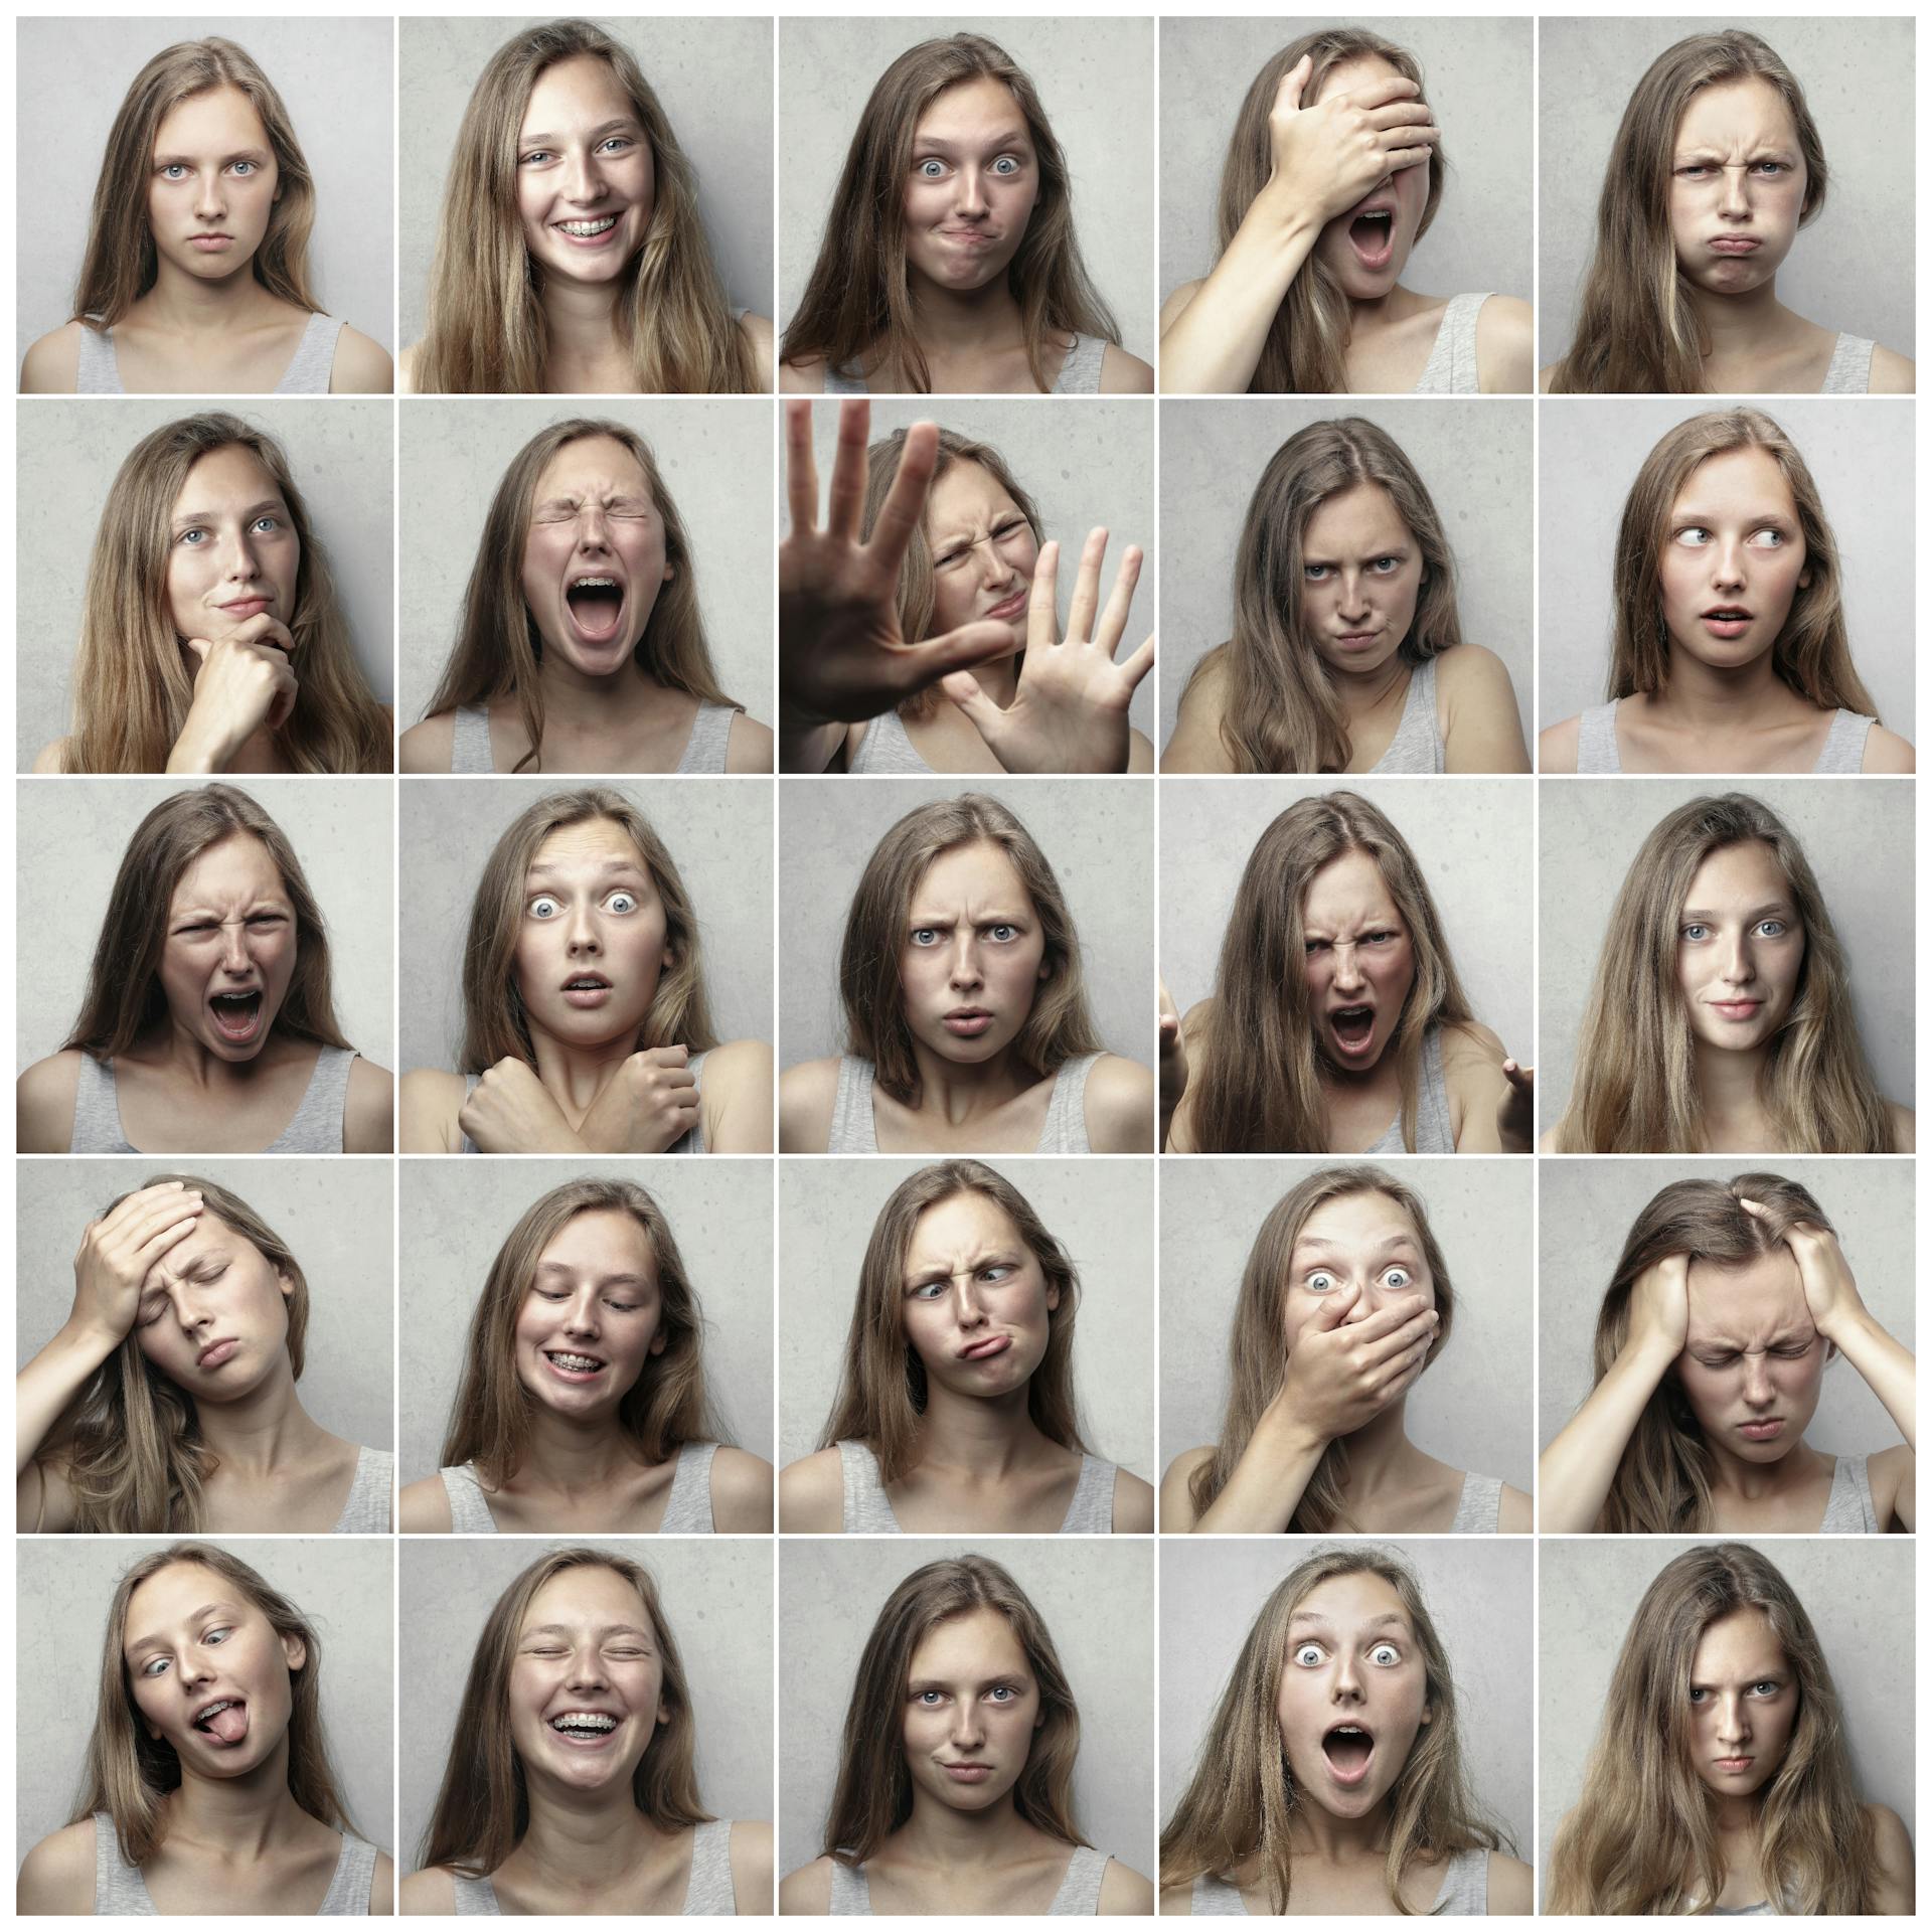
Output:
[[991,1557],[916,1569],[852,1681],[825,1853],[782,1915],[1153,1911],[1074,1822],[1080,1712],[1032,1598]]

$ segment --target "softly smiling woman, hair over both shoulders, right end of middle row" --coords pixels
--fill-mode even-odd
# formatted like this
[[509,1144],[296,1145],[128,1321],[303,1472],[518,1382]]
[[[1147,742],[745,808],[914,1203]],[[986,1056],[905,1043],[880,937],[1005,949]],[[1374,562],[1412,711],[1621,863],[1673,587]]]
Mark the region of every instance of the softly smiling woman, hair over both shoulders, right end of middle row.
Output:
[[1747,792],[1679,806],[1617,895],[1544,1151],[1911,1153],[1915,1136],[1864,1063],[1791,827]]

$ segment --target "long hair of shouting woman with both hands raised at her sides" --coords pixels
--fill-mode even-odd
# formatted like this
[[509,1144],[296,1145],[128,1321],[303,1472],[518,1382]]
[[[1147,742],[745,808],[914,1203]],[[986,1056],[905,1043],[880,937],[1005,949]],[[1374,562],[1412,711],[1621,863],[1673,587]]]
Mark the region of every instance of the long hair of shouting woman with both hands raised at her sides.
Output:
[[1204,1153],[1323,1153],[1327,1101],[1308,1010],[1302,906],[1323,866],[1366,852],[1408,927],[1416,980],[1403,1003],[1395,1055],[1403,1146],[1416,1151],[1422,1043],[1432,1028],[1472,1020],[1449,939],[1408,840],[1358,792],[1300,798],[1248,854],[1221,939],[1200,1066],[1188,1082],[1194,1144]]

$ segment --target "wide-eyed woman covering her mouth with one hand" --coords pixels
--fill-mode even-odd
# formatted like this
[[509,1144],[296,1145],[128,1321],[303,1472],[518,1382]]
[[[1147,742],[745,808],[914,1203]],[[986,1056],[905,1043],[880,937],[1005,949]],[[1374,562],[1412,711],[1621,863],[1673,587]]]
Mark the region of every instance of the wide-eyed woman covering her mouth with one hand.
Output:
[[1291,1188],[1242,1269],[1221,1441],[1169,1464],[1161,1528],[1528,1530],[1520,1490],[1408,1439],[1408,1391],[1453,1318],[1428,1211],[1401,1180],[1329,1167]]

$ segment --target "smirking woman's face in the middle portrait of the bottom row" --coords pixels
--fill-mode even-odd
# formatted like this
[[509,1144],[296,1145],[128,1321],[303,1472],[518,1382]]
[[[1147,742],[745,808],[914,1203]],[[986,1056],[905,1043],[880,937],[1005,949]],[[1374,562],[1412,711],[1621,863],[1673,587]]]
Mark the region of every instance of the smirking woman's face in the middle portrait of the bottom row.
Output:
[[1018,1783],[1043,1721],[1039,1683],[1007,1617],[935,1623],[906,1671],[906,1770],[949,1810],[991,1810]]

